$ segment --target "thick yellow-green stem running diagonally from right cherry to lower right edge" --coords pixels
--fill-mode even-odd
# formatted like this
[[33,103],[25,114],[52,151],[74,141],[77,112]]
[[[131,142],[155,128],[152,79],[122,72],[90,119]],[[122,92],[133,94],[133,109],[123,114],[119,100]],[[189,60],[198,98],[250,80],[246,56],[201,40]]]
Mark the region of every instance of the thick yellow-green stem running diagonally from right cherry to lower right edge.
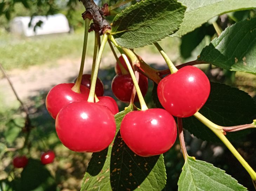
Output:
[[194,116],[200,120],[204,125],[206,125],[208,128],[210,128],[211,131],[214,132],[214,134],[217,135],[218,138],[225,144],[225,146],[228,147],[228,149],[231,151],[231,153],[236,157],[236,159],[242,164],[242,166],[247,170],[249,175],[251,176],[252,181],[256,181],[256,173],[255,171],[249,166],[249,164],[243,159],[243,157],[237,152],[235,147],[229,142],[229,140],[225,137],[223,134],[224,131],[222,130],[222,127],[219,125],[216,125],[215,123],[211,122],[209,119],[201,115],[199,112],[196,112]]

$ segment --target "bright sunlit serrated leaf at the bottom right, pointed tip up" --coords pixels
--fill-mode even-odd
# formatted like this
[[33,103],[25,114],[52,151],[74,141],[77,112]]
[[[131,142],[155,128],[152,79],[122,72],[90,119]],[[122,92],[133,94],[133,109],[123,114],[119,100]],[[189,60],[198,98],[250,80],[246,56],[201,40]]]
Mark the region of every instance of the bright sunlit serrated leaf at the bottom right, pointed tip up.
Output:
[[178,190],[242,191],[247,189],[238,184],[236,179],[225,174],[224,170],[189,156],[178,180]]

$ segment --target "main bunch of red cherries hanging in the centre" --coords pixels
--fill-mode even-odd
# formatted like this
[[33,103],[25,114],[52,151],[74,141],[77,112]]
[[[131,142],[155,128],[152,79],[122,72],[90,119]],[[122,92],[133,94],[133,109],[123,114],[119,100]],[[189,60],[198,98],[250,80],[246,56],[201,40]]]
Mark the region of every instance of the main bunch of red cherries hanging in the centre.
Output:
[[[123,57],[119,57],[119,61],[128,73]],[[120,63],[115,65],[112,91],[120,101],[130,102],[134,83],[131,75],[120,69]],[[99,78],[96,80],[94,102],[88,102],[90,84],[91,75],[83,74],[80,92],[72,89],[75,83],[62,83],[53,87],[46,97],[46,107],[56,119],[60,141],[75,152],[99,152],[109,146],[116,133],[116,102],[111,97],[103,96],[103,83]],[[148,78],[142,73],[139,73],[138,84],[142,96],[145,96]],[[122,139],[139,156],[167,152],[177,137],[173,116],[183,118],[194,115],[207,101],[209,93],[209,80],[200,69],[194,66],[179,69],[164,77],[158,85],[157,95],[164,109],[127,113],[120,126]],[[139,101],[137,95],[134,101]]]

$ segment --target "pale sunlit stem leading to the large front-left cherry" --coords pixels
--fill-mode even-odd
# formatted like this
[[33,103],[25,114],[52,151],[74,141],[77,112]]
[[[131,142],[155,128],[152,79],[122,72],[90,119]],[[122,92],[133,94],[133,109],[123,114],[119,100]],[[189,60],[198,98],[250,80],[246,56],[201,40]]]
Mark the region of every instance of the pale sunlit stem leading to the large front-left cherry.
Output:
[[103,53],[103,50],[107,43],[107,40],[108,40],[108,35],[105,33],[102,38],[102,43],[100,46],[99,54],[97,56],[97,60],[96,60],[96,64],[95,64],[95,68],[94,68],[94,72],[93,72],[93,80],[92,80],[92,84],[91,84],[91,88],[90,88],[89,97],[87,100],[88,102],[94,102],[94,94],[95,94],[97,75],[98,75],[98,71],[100,68],[100,61],[101,61],[102,53]]

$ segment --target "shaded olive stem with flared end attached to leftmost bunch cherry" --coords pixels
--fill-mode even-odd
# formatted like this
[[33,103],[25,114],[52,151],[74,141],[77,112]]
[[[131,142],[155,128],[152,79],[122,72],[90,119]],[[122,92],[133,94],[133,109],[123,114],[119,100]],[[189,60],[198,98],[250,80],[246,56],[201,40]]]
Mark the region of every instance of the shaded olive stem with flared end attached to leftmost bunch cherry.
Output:
[[81,81],[82,81],[83,67],[85,65],[85,54],[86,54],[86,47],[87,47],[89,24],[90,24],[90,19],[86,18],[85,19],[85,36],[83,39],[83,52],[82,52],[79,74],[78,74],[78,78],[76,79],[75,85],[72,87],[72,90],[79,94],[81,93],[80,85],[81,85]]

